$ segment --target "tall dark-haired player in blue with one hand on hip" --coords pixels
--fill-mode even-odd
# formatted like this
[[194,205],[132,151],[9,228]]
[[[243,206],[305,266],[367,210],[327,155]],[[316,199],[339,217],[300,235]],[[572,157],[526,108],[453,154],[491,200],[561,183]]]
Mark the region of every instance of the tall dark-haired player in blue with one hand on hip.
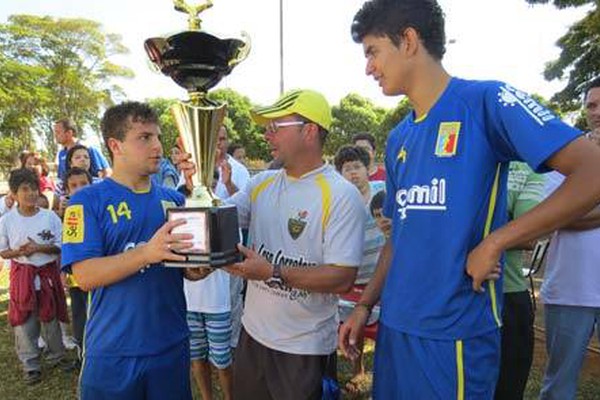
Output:
[[[375,398],[491,399],[500,362],[502,253],[600,201],[600,150],[527,94],[450,76],[435,0],[372,0],[354,17],[366,72],[414,110],[389,135],[392,236],[340,331],[350,356],[381,297]],[[508,162],[559,170],[563,186],[506,224]],[[489,235],[488,235],[489,233]],[[489,279],[494,278],[494,279]]]

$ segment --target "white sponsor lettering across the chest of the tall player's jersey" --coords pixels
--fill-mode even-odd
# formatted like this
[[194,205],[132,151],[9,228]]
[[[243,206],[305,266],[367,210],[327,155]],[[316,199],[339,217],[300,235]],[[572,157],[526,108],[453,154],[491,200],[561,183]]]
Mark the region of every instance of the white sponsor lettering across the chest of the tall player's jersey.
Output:
[[428,185],[413,185],[396,192],[400,219],[406,219],[408,210],[446,211],[446,179],[433,178]]

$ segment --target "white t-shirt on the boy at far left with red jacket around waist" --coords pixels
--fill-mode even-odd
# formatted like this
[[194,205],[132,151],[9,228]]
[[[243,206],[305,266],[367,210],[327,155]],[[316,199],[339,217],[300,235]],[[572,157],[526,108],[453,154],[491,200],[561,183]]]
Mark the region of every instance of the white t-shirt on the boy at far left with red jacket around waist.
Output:
[[[19,213],[17,207],[0,218],[0,251],[15,250],[29,242],[29,239],[38,244],[52,244],[60,247],[62,224],[60,218],[52,211],[39,209],[30,217]],[[34,253],[30,256],[17,257],[14,260],[22,263],[41,267],[58,259],[58,254]],[[57,267],[58,268],[58,267]],[[40,278],[35,277],[35,289],[40,289]]]

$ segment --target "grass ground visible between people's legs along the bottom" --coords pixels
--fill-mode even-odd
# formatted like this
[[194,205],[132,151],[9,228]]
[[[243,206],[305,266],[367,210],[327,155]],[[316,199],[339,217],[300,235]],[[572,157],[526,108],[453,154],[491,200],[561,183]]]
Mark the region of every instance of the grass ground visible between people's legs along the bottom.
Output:
[[[8,324],[8,271],[0,272],[0,399],[2,400],[70,400],[76,399],[77,373],[64,373],[59,370],[43,369],[42,382],[27,386],[23,383],[21,367],[13,345],[13,332]],[[536,340],[535,360],[527,386],[526,399],[537,399],[543,376],[545,353],[543,335]],[[367,370],[372,368],[374,343],[368,342],[365,348]],[[74,357],[74,354],[71,355]],[[343,385],[350,378],[350,365],[339,359],[339,378]],[[368,399],[370,379],[364,382],[359,395],[345,395],[345,399]],[[200,396],[195,393],[195,398]],[[584,365],[578,394],[580,400],[600,399],[600,355],[590,353]]]

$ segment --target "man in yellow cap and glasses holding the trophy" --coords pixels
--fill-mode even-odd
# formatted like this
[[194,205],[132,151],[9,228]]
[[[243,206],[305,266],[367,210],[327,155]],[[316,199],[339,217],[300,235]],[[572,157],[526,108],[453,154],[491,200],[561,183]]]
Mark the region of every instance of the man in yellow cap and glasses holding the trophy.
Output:
[[356,188],[323,161],[331,109],[314,91],[254,110],[282,162],[230,198],[252,249],[227,267],[248,280],[234,398],[320,399],[335,374],[338,293],[362,258],[366,213]]

